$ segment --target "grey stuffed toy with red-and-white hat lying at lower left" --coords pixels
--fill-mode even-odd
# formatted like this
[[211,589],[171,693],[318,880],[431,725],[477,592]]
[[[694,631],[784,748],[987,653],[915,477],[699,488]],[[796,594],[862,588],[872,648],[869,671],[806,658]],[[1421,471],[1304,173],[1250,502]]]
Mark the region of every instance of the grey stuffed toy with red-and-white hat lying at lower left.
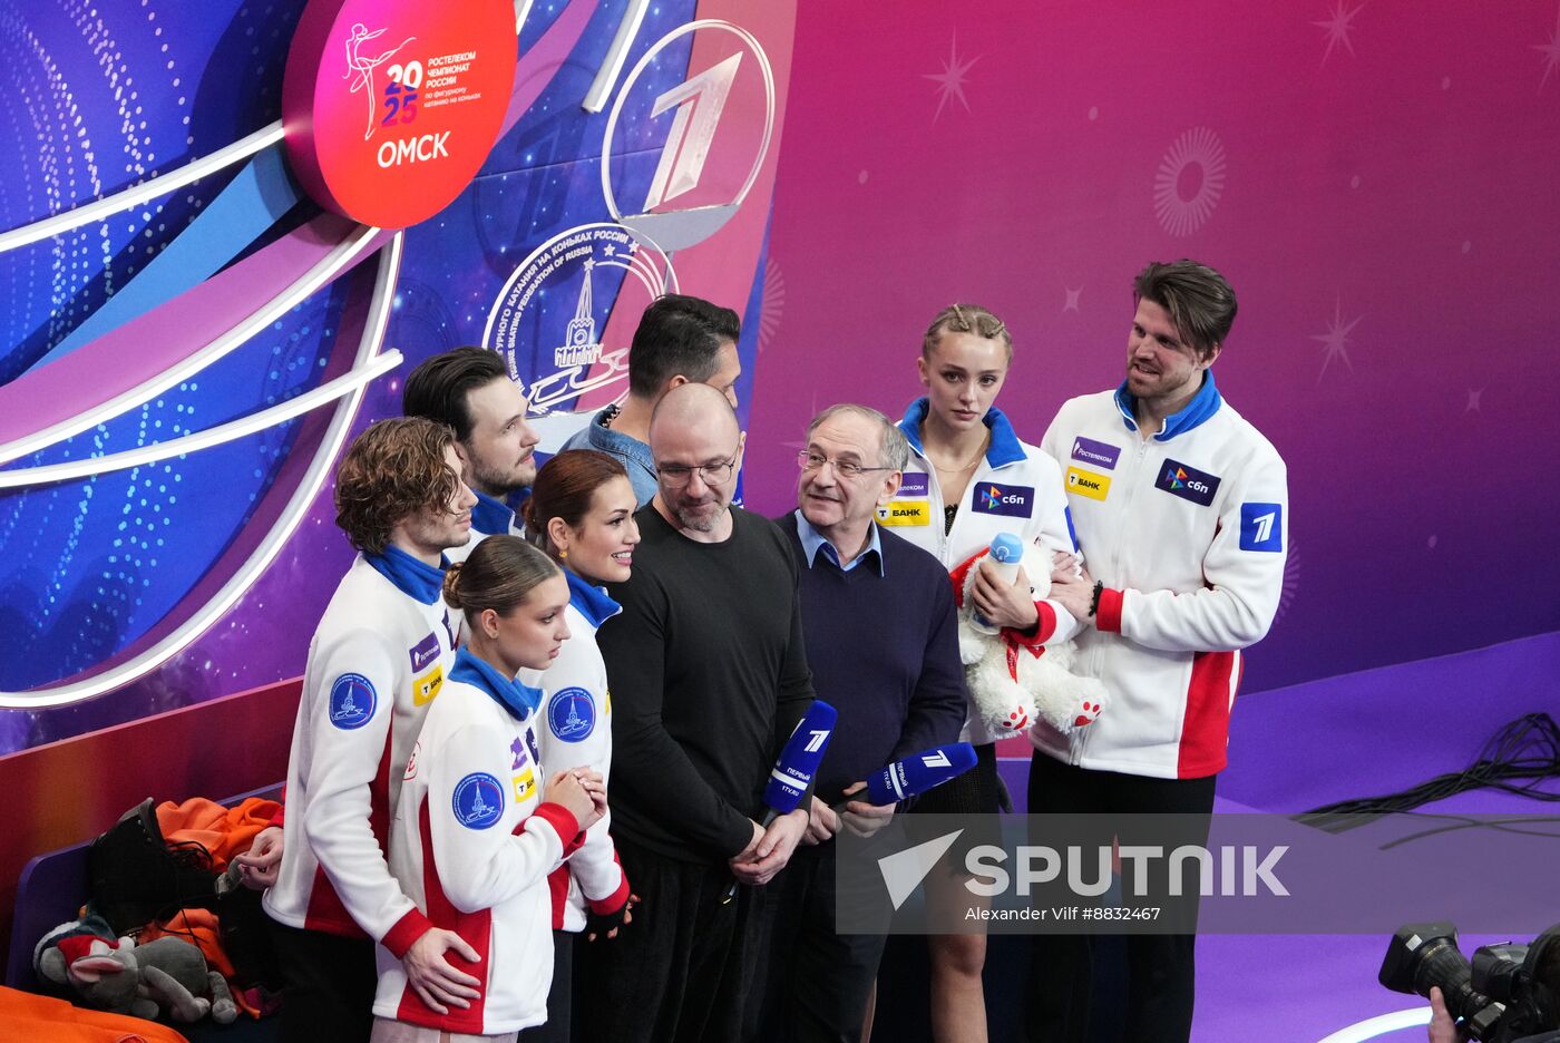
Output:
[[217,1024],[239,1016],[228,982],[206,967],[200,948],[175,937],[145,945],[131,939],[83,934],[81,921],[61,925],[37,943],[33,968],[39,979],[70,985],[89,1007],[154,1020]]

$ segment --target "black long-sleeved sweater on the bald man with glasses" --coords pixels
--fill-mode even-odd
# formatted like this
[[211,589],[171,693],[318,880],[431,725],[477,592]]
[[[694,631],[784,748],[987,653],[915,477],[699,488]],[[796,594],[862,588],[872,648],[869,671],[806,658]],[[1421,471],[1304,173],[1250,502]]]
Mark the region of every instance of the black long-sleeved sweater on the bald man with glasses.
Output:
[[766,518],[732,508],[696,543],[654,504],[635,519],[622,613],[596,636],[612,688],[612,829],[688,862],[753,837],[780,747],[813,705],[796,558]]

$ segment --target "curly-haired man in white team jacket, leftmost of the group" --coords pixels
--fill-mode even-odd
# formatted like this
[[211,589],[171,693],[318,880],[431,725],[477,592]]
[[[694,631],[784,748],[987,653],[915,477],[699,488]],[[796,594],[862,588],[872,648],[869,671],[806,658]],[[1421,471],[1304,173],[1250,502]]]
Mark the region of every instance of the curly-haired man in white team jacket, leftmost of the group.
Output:
[[309,644],[281,867],[265,893],[287,981],[284,1040],[368,1040],[376,942],[435,1010],[477,999],[477,979],[445,956],[477,953],[418,912],[384,854],[454,656],[443,552],[466,543],[474,504],[454,432],[429,419],[374,424],[337,466],[335,522],[360,553]]

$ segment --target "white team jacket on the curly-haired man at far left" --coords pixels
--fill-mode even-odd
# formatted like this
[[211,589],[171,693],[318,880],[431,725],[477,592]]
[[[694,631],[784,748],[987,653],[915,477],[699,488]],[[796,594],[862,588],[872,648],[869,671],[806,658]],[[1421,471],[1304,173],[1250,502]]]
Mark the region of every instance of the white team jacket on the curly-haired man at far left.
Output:
[[451,664],[441,578],[395,547],[359,555],[320,619],[287,759],[282,864],[264,898],[281,923],[367,932],[396,956],[427,929],[384,850],[401,769]]

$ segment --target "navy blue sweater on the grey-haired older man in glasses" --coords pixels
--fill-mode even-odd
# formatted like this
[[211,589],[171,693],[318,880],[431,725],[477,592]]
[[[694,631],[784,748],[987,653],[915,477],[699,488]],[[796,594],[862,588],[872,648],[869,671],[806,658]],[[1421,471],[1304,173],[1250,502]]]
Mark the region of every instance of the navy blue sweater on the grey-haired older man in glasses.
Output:
[[872,561],[841,571],[822,550],[808,567],[796,516],[775,524],[800,571],[813,689],[839,711],[816,783],[833,803],[889,761],[958,741],[967,697],[953,585],[941,561],[886,529],[878,575]]

